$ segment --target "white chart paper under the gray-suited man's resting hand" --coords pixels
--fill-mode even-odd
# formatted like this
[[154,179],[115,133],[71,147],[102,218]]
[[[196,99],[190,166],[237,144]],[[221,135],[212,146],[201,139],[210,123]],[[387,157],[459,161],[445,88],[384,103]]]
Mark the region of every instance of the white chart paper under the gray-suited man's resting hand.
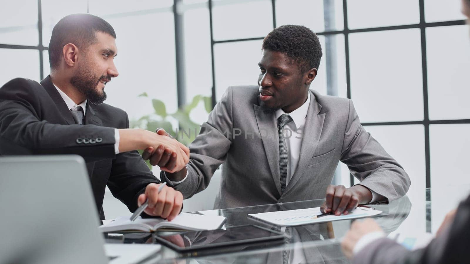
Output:
[[306,208],[306,209],[297,209],[297,210],[286,210],[286,211],[276,211],[276,212],[267,212],[259,214],[248,214],[251,217],[258,218],[260,220],[266,221],[268,223],[280,226],[294,226],[294,225],[307,225],[307,224],[316,224],[324,223],[336,220],[345,220],[345,219],[354,219],[361,217],[371,217],[382,213],[382,211],[374,210],[367,207],[356,207],[347,215],[328,215],[316,218],[316,216],[321,215],[320,207]]

